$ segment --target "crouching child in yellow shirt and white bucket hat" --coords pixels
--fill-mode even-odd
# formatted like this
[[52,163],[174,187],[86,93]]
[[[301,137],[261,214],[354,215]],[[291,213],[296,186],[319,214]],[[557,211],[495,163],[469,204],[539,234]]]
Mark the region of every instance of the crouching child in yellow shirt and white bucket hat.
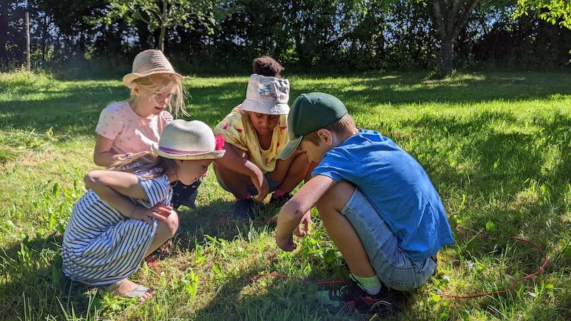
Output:
[[215,163],[216,178],[236,196],[233,215],[243,220],[253,218],[252,195],[261,201],[273,192],[271,203],[283,205],[310,165],[302,153],[278,160],[288,142],[289,82],[281,78],[283,67],[263,56],[254,60],[253,71],[246,99],[214,128],[227,151]]

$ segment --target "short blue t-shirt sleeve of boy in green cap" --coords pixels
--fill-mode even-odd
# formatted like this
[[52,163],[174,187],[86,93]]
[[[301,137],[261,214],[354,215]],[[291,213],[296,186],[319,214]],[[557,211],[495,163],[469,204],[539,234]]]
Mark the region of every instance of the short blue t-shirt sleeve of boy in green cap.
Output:
[[312,175],[323,175],[337,182],[347,180],[353,182],[355,166],[348,153],[343,149],[333,148],[328,151],[323,160],[313,170]]

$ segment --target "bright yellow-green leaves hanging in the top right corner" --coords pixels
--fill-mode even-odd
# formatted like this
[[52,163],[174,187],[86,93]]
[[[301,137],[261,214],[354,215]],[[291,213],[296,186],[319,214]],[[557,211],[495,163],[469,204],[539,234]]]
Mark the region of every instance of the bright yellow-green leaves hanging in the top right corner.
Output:
[[514,17],[528,14],[530,9],[537,9],[538,16],[552,24],[559,24],[571,29],[571,1],[569,0],[517,0]]

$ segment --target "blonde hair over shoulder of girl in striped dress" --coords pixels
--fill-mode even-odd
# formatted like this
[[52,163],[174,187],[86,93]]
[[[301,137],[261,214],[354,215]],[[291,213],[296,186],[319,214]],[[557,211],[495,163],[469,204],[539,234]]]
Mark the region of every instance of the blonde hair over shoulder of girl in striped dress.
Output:
[[140,153],[133,158],[119,158],[111,164],[109,170],[136,174],[144,173],[142,178],[157,178],[169,172],[176,173],[174,160],[157,156],[153,152]]

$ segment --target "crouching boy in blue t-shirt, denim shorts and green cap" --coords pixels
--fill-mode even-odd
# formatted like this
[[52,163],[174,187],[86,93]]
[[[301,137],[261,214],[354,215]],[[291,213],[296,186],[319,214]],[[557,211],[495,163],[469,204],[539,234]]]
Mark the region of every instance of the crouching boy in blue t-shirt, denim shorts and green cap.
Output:
[[278,246],[295,249],[292,233],[308,233],[315,205],[351,272],[348,285],[318,292],[320,300],[391,310],[390,300],[380,299],[388,297],[381,282],[400,291],[420,287],[433,275],[438,250],[454,242],[440,196],[412,156],[377,131],[358,130],[334,96],[299,96],[288,128],[280,157],[297,149],[318,165],[281,208]]

